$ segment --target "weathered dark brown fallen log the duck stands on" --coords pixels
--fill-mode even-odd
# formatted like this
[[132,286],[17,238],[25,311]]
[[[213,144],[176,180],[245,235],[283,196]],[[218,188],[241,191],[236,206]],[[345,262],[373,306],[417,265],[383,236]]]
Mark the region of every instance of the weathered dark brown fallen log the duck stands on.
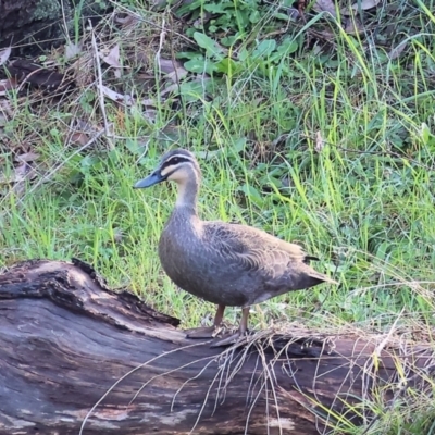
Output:
[[431,357],[385,336],[296,327],[210,349],[177,324],[78,261],[3,272],[0,434],[318,434],[333,414],[364,423],[349,406],[390,399],[397,368]]

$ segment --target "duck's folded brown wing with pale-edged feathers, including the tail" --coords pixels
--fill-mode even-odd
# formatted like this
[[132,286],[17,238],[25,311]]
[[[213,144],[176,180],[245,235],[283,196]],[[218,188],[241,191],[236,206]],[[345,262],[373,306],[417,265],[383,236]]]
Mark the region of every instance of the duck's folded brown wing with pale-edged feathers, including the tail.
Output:
[[231,274],[238,283],[245,306],[323,282],[337,284],[306,263],[307,254],[299,245],[288,244],[263,231],[204,222],[203,232],[209,263],[214,263],[224,276]]

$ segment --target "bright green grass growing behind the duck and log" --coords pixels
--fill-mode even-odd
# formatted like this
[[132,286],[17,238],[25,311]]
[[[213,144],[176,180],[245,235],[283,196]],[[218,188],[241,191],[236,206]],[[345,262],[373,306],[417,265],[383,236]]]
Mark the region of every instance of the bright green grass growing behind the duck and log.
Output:
[[[207,97],[191,86],[182,89],[179,111],[162,100],[147,119],[139,107],[123,110],[107,101],[121,137],[112,148],[104,141],[83,152],[64,146],[69,120],[99,120],[95,89],[86,103],[83,91],[62,110],[15,98],[7,132],[15,144],[30,140],[41,156],[40,177],[24,191],[0,186],[0,266],[78,257],[111,286],[127,285],[185,327],[212,316],[212,304],[175,288],[160,268],[157,244],[175,200],[173,186],[132,188],[165,149],[184,146],[200,157],[203,219],[243,222],[300,243],[321,258],[316,269],[340,282],[254,307],[251,326],[278,320],[315,326],[327,319],[388,331],[401,313],[400,327],[431,330],[435,22],[424,8],[419,13],[432,39],[411,38],[405,60],[388,61],[382,50],[370,52],[335,28],[334,54],[300,49],[274,63],[248,57],[241,72],[215,77]],[[161,90],[152,88],[151,97]],[[176,142],[162,133],[171,128]],[[12,171],[11,153],[0,158]],[[238,315],[228,310],[227,319]],[[422,401],[412,423],[393,408],[370,433],[433,434],[434,405]]]

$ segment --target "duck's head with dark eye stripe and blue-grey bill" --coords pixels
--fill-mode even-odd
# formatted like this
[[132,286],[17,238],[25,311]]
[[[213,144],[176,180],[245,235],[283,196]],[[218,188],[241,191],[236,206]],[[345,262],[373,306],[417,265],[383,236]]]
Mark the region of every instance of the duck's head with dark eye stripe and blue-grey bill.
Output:
[[152,174],[137,182],[134,188],[150,187],[164,181],[175,182],[181,186],[186,185],[189,181],[199,184],[200,174],[201,171],[195,156],[190,151],[176,149],[166,152]]

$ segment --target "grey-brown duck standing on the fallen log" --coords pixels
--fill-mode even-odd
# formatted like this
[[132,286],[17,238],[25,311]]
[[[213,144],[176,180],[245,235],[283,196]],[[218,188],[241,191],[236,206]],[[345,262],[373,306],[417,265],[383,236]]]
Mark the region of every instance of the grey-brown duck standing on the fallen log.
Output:
[[[288,291],[338,284],[311,268],[310,260],[318,259],[297,244],[248,225],[202,221],[197,207],[201,170],[192,152],[166,152],[134,188],[162,182],[175,183],[177,197],[160,235],[161,265],[176,286],[217,306],[213,325],[187,330],[187,338],[214,338],[211,347],[237,343],[248,333],[250,307]],[[241,308],[240,323],[235,333],[219,336],[226,307]]]

